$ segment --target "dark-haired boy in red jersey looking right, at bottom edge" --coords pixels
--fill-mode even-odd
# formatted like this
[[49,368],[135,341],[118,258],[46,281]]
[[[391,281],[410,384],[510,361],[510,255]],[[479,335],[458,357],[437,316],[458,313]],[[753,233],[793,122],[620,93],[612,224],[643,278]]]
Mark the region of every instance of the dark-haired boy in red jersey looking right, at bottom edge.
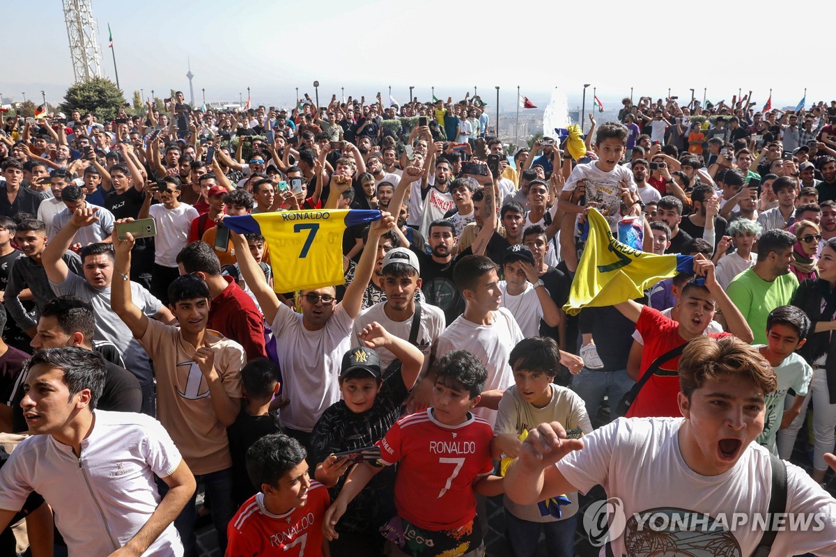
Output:
[[261,491],[238,509],[227,528],[226,557],[322,557],[328,490],[308,476],[305,449],[281,433],[247,451],[247,472]]

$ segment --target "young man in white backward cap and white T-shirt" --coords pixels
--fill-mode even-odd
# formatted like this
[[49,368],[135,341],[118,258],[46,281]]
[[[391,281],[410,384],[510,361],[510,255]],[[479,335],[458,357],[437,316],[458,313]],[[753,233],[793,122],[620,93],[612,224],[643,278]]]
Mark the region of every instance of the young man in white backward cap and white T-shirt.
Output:
[[[359,345],[359,332],[378,322],[391,335],[409,341],[424,355],[421,367],[421,381],[415,385],[410,395],[410,410],[417,412],[424,410],[430,403],[430,392],[435,382],[428,377],[431,355],[436,349],[438,337],[444,332],[444,312],[439,307],[421,302],[418,328],[415,338],[412,338],[415,313],[419,311],[419,304],[415,302],[415,292],[421,291],[421,265],[418,257],[412,251],[396,247],[383,258],[381,273],[382,286],[386,300],[363,311],[354,320],[354,345]],[[395,355],[381,347],[377,350],[380,357],[380,367],[388,369],[395,361]]]

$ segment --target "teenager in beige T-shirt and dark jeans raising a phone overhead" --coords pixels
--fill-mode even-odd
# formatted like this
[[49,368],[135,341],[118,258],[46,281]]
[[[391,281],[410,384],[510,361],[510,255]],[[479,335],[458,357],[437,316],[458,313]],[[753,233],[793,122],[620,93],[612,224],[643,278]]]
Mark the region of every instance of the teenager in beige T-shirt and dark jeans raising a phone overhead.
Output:
[[[119,224],[119,223],[117,223]],[[130,272],[133,235],[114,234],[115,271]],[[127,281],[115,281],[110,305],[154,362],[157,415],[181,449],[183,458],[212,498],[217,543],[227,547],[232,518],[232,457],[227,427],[241,410],[241,368],[246,357],[240,344],[206,329],[210,294],[197,276],[180,276],[169,287],[171,311],[179,327],[145,316],[134,305]],[[186,554],[196,550],[195,499],[175,520]]]

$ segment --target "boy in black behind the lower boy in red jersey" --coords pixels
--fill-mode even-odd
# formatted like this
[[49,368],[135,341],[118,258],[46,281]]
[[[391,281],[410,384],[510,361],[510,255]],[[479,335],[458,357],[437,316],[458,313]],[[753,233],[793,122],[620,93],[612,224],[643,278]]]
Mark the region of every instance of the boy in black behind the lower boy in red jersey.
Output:
[[241,369],[243,406],[235,423],[227,428],[232,454],[232,503],[238,508],[258,491],[247,475],[247,450],[258,439],[278,433],[276,420],[268,413],[278,392],[278,366],[267,358],[247,362]]

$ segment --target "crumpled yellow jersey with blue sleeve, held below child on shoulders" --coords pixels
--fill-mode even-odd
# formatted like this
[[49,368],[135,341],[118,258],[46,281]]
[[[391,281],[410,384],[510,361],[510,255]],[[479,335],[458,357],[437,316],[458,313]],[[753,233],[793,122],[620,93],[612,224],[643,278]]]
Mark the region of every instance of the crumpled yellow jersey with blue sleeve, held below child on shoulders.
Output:
[[577,315],[587,306],[613,306],[640,298],[656,282],[694,271],[692,256],[657,256],[635,250],[615,239],[609,222],[597,209],[589,210],[587,218],[589,238],[563,306],[569,315]]

